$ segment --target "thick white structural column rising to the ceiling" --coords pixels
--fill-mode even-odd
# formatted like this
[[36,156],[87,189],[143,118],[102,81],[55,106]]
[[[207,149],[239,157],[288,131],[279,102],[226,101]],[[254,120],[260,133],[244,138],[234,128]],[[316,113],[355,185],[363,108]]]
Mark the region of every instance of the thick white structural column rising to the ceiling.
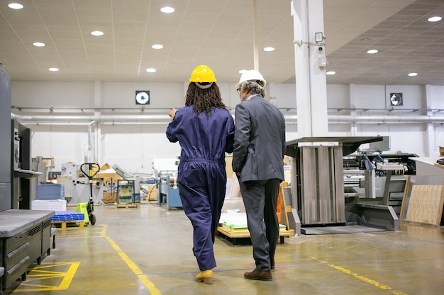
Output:
[[299,137],[326,137],[328,112],[323,0],[292,0],[291,9],[298,134]]

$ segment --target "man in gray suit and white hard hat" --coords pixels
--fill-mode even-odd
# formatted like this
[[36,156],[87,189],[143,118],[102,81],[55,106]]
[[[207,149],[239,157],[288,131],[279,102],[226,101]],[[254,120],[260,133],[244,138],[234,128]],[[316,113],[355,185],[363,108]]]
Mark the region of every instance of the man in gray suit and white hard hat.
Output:
[[265,79],[258,71],[245,72],[235,86],[240,103],[235,108],[233,171],[247,213],[255,270],[245,279],[272,281],[274,252],[279,240],[277,196],[284,180],[284,115],[264,99]]

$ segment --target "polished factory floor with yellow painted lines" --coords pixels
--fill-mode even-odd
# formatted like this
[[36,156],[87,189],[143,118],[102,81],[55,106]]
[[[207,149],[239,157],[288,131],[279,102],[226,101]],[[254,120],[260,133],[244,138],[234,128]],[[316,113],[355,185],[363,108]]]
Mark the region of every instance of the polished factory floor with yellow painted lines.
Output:
[[444,294],[443,226],[285,238],[272,282],[244,279],[254,268],[251,245],[218,237],[214,283],[204,284],[194,281],[192,226],[182,209],[143,202],[95,205],[94,214],[94,226],[59,229],[51,255],[5,294]]

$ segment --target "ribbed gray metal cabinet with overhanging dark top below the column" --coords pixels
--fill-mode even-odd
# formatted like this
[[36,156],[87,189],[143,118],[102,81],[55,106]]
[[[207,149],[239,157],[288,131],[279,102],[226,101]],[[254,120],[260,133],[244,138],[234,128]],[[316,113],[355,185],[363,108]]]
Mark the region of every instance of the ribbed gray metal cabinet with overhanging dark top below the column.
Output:
[[[304,137],[287,142],[292,163],[292,204],[302,225],[345,224],[343,156],[380,137]],[[296,185],[295,185],[296,184]]]

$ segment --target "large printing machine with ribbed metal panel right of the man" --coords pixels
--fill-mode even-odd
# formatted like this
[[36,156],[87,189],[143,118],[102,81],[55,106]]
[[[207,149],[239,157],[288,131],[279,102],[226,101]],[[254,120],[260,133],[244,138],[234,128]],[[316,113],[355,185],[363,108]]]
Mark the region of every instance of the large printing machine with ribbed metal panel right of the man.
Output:
[[[414,154],[353,154],[383,137],[304,137],[287,142],[292,158],[290,197],[296,233],[353,226],[399,231],[405,174],[414,174]],[[352,155],[353,154],[353,155]],[[284,194],[285,195],[285,194]],[[287,197],[286,197],[287,199]],[[399,211],[399,210],[398,210]],[[325,232],[325,231],[324,231]]]

